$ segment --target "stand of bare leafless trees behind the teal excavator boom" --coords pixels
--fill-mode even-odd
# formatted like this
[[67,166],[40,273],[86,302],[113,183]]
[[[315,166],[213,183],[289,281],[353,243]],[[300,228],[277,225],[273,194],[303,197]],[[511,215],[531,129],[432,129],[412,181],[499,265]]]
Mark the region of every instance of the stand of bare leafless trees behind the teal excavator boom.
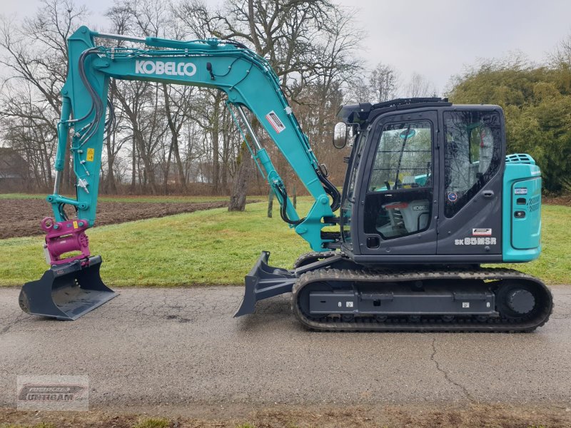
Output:
[[[226,0],[218,11],[198,0],[174,1],[178,3],[115,0],[106,14],[111,22],[107,31],[178,40],[215,36],[250,46],[275,69],[320,160],[344,170],[328,142],[343,88],[353,85],[361,68],[353,49],[360,34],[350,11],[329,0]],[[0,25],[0,63],[6,75],[0,92],[3,145],[24,156],[31,167],[26,180],[36,189],[53,185],[59,91],[68,67],[66,39],[86,13],[71,0],[42,0],[32,18]],[[135,46],[106,39],[96,43]],[[221,91],[112,78],[109,97],[116,126],[103,141],[102,191],[168,193],[173,185],[183,192],[233,189],[233,208],[241,210],[248,185],[257,186],[256,191],[266,186],[258,175],[253,178],[250,153]],[[300,188],[285,159],[274,156],[279,151],[263,128],[252,122],[283,179]],[[73,189],[71,166],[67,153],[67,191]]]

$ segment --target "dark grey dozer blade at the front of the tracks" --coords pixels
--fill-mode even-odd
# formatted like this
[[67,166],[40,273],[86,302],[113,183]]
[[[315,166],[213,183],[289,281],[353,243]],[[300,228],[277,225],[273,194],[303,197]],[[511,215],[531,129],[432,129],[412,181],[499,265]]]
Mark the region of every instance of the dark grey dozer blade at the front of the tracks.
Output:
[[262,255],[246,275],[244,296],[234,317],[252,314],[258,300],[291,292],[296,279],[295,272],[281,267],[268,266],[269,257],[268,251],[262,251]]

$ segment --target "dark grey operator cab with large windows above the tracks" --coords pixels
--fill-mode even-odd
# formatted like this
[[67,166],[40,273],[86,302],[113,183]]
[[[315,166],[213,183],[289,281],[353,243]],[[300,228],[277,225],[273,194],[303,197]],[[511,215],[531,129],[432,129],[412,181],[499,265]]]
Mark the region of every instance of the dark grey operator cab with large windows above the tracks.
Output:
[[338,116],[353,139],[343,251],[365,265],[501,261],[500,107],[408,98],[343,106]]

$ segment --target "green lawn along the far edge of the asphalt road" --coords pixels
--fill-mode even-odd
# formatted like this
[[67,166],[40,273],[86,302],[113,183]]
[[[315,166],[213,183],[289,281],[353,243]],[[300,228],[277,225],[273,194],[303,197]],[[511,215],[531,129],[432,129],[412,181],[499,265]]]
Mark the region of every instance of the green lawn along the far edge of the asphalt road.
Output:
[[[103,256],[101,277],[111,287],[243,284],[261,250],[271,265],[291,267],[308,251],[305,241],[282,222],[277,208],[266,217],[266,203],[243,213],[226,208],[108,225],[89,231],[91,251]],[[274,205],[276,207],[276,205]],[[300,198],[300,213],[308,198]],[[542,208],[540,259],[502,265],[541,277],[549,284],[569,284],[571,208]],[[46,270],[41,236],[0,240],[0,285],[21,285]]]

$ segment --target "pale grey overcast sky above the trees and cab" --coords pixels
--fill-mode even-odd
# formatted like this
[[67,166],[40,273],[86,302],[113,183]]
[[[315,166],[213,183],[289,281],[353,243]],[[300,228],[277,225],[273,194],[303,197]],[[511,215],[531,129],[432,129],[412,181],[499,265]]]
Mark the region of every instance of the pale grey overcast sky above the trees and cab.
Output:
[[[532,61],[571,34],[571,0],[337,0],[355,9],[355,24],[367,31],[358,55],[368,66],[379,61],[428,78],[441,92],[450,76],[480,58],[521,51]],[[221,0],[208,0],[220,4]],[[89,26],[105,27],[103,12],[113,0],[85,1]],[[33,14],[36,0],[2,0],[1,13]]]

